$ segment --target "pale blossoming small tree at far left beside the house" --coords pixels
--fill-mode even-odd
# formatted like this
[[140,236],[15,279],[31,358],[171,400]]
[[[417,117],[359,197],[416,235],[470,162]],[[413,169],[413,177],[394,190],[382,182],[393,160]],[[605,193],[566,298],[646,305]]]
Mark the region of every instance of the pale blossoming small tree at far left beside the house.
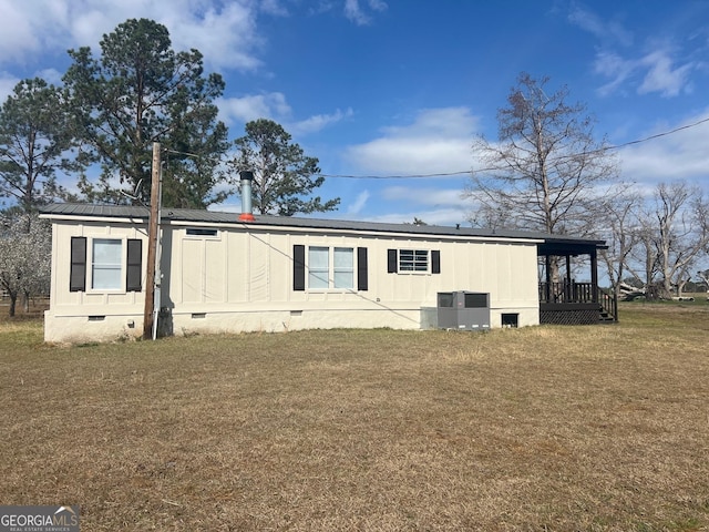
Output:
[[19,296],[27,309],[31,297],[49,291],[51,248],[51,227],[37,215],[18,216],[0,229],[0,288],[10,296],[10,316]]

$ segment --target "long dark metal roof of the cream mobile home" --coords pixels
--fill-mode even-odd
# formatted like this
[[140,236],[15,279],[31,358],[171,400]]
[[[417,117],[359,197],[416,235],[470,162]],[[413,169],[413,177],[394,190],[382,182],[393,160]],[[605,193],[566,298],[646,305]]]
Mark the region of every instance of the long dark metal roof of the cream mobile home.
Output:
[[[45,205],[40,213],[48,218],[54,217],[76,217],[76,218],[131,218],[147,219],[148,207],[133,205],[90,205],[54,203]],[[442,225],[413,225],[413,224],[384,224],[379,222],[361,222],[346,219],[325,219],[294,216],[269,216],[254,215],[254,222],[242,222],[238,213],[223,213],[193,208],[163,208],[162,221],[208,223],[223,226],[249,226],[249,227],[282,227],[282,228],[314,228],[314,229],[339,229],[369,233],[397,233],[412,234],[420,236],[448,236],[448,237],[477,237],[477,238],[515,238],[528,241],[543,241],[549,248],[575,247],[578,249],[592,249],[605,247],[604,241],[580,238],[574,236],[549,235],[538,232],[525,231],[495,231],[462,226]]]

